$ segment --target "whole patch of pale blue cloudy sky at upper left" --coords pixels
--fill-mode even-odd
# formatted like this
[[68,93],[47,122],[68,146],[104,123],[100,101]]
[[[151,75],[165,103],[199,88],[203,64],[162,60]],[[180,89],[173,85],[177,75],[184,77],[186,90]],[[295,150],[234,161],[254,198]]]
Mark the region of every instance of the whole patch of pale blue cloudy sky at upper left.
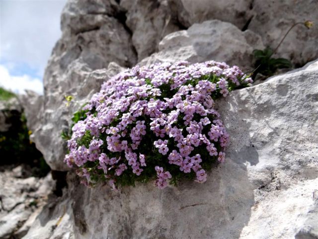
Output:
[[66,0],[0,0],[0,86],[43,94],[43,74],[61,36]]

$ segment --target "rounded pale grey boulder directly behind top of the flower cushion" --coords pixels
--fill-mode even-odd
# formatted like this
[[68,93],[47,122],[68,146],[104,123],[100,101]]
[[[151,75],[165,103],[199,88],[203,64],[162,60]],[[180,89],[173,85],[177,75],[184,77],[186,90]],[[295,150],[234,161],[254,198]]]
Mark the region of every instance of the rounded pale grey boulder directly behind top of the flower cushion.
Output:
[[228,22],[211,20],[166,35],[159,43],[159,52],[140,64],[215,60],[248,67],[252,65],[252,51],[255,48],[263,48],[257,34],[248,30],[242,32]]

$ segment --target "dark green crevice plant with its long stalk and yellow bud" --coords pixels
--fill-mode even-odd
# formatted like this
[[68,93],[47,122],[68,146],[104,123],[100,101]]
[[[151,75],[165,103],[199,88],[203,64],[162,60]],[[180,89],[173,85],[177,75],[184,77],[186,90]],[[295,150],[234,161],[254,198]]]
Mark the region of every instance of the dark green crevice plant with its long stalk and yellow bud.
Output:
[[292,68],[293,64],[285,58],[274,58],[272,57],[279,46],[282,44],[288,33],[296,26],[302,24],[306,26],[308,29],[310,29],[313,26],[313,21],[305,21],[305,22],[297,22],[293,24],[289,30],[286,32],[284,37],[281,39],[279,44],[276,46],[274,50],[272,50],[269,47],[266,47],[264,50],[254,50],[253,55],[254,55],[254,71],[252,72],[252,78],[255,79],[256,75],[258,73],[262,74],[265,77],[270,77],[274,75],[274,73],[278,69],[283,69],[283,68]]

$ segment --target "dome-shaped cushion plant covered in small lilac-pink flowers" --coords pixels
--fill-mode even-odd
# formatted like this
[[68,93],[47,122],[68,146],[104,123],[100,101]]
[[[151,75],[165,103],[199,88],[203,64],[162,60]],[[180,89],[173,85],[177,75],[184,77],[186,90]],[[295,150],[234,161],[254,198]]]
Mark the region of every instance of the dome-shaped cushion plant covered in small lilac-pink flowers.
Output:
[[237,66],[215,61],[136,66],[105,82],[75,114],[64,161],[86,185],[203,183],[224,162],[229,139],[214,101],[251,82]]

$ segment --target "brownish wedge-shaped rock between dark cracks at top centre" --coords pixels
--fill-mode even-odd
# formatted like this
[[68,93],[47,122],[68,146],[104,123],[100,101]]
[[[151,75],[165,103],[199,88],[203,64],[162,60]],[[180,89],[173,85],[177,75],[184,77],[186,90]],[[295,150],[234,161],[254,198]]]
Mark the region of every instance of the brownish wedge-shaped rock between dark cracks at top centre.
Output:
[[179,30],[166,0],[122,0],[120,5],[127,11],[126,24],[139,61],[154,53],[166,34]]

